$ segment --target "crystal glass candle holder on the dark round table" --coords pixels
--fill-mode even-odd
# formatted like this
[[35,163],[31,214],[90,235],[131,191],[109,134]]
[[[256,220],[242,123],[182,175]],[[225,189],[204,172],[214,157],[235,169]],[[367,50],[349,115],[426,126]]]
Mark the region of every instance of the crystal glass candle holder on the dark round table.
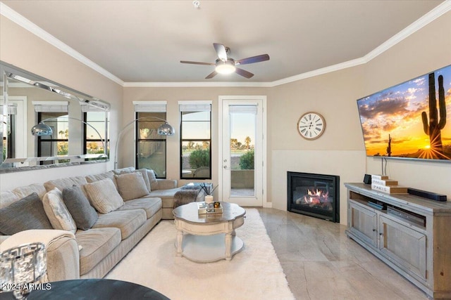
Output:
[[13,290],[16,299],[27,299],[33,284],[47,272],[47,251],[42,242],[23,244],[0,254],[0,285]]

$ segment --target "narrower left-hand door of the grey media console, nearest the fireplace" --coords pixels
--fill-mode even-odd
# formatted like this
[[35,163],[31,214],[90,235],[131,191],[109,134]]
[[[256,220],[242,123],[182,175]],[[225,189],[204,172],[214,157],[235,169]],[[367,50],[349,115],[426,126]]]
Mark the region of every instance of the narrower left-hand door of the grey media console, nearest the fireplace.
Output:
[[350,200],[348,211],[349,230],[365,242],[377,247],[377,215],[364,205]]

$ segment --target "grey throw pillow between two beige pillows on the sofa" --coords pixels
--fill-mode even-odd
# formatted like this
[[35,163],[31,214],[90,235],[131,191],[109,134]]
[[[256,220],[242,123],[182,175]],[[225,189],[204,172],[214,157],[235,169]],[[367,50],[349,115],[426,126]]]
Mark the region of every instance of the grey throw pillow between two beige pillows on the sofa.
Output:
[[96,223],[99,215],[78,185],[63,190],[63,202],[72,215],[77,228],[88,230]]

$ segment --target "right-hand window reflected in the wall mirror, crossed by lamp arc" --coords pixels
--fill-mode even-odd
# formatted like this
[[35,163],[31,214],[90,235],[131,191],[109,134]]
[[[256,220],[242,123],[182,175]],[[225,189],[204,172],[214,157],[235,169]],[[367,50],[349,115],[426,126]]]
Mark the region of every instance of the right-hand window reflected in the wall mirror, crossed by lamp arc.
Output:
[[[105,122],[106,122],[106,116],[107,112],[100,111],[87,111],[83,113],[83,119],[84,121],[94,127],[97,132],[92,129],[91,126],[88,126],[87,124],[84,125],[84,131],[85,131],[85,147],[83,147],[83,154],[87,155],[102,155],[105,153],[104,146],[106,145],[106,155],[110,155],[109,151],[109,126],[107,127],[107,136],[105,137]],[[99,136],[100,135],[100,136]],[[106,138],[106,141],[105,141]],[[105,142],[104,142],[105,141]],[[93,157],[92,159],[102,159],[99,157]],[[106,159],[106,158],[104,158]],[[89,160],[87,158],[86,160]]]

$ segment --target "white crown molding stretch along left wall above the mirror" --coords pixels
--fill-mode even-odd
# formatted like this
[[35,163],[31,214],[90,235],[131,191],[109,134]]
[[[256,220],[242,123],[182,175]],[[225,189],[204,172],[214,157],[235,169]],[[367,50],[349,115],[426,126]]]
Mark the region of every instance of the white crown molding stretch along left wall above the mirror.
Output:
[[4,15],[9,20],[15,22],[20,27],[23,27],[25,30],[28,30],[32,34],[35,34],[37,37],[40,37],[44,41],[47,41],[47,43],[51,44],[52,46],[58,48],[59,50],[63,51],[64,53],[68,54],[69,56],[72,56],[76,60],[80,61],[80,63],[83,63],[87,65],[87,67],[90,67],[92,70],[99,72],[100,74],[104,75],[104,77],[111,79],[112,81],[116,82],[117,84],[120,84],[123,86],[124,81],[115,75],[111,74],[107,70],[105,70],[103,67],[97,65],[97,63],[94,63],[92,60],[89,60],[86,56],[83,56],[78,51],[75,51],[73,48],[68,46],[67,44],[63,43],[59,39],[56,39],[53,35],[49,34],[49,32],[43,30],[41,27],[37,26],[35,23],[31,22],[27,18],[25,18],[23,15],[20,15],[16,11],[13,11],[9,6],[6,6],[5,4],[0,2],[0,14]]

